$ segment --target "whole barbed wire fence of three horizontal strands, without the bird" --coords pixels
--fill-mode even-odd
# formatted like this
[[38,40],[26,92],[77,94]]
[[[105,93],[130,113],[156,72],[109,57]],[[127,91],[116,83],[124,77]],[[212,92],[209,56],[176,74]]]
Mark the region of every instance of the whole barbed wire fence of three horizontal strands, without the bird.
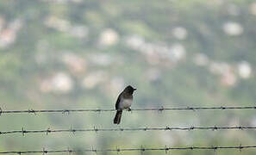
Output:
[[[185,107],[185,108],[148,108],[148,109],[132,109],[132,111],[199,111],[199,110],[246,110],[246,109],[256,109],[256,106],[231,106],[231,107]],[[39,114],[39,113],[60,113],[60,114],[70,114],[70,113],[78,113],[78,112],[115,112],[116,109],[41,109],[41,110],[3,110],[0,108],[0,116],[3,114]],[[26,130],[22,127],[22,130],[12,130],[12,131],[2,131],[0,135],[4,134],[13,134],[13,133],[22,133],[24,136],[27,133],[77,133],[77,132],[122,132],[122,131],[194,131],[194,130],[255,130],[256,127],[254,126],[235,126],[235,127],[137,127],[137,128],[85,128],[85,129],[57,129],[53,130],[47,128],[46,130]],[[225,150],[225,149],[236,149],[240,152],[245,149],[256,149],[256,146],[184,146],[184,147],[154,147],[154,148],[144,148],[141,146],[140,148],[117,148],[116,149],[82,149],[82,150],[45,150],[42,149],[41,151],[11,151],[11,152],[0,152],[0,154],[26,154],[26,153],[60,153],[60,152],[147,152],[147,151],[164,151],[165,153],[172,151],[172,150]]]

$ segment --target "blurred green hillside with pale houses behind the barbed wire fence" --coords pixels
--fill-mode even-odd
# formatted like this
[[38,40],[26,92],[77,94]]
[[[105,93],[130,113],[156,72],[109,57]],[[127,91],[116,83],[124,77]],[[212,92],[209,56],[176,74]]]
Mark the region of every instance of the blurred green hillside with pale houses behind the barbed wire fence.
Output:
[[[112,109],[128,84],[138,90],[132,108],[255,105],[255,25],[253,0],[0,1],[0,107]],[[116,127],[114,115],[2,115],[0,131]],[[256,115],[125,112],[121,127],[166,125],[255,126]],[[255,138],[253,131],[32,134],[1,137],[0,150],[255,145]]]

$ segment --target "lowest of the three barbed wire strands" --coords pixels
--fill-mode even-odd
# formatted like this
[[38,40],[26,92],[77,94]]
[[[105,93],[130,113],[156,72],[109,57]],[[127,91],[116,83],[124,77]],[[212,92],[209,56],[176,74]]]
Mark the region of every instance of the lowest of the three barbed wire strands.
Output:
[[46,150],[42,149],[42,151],[28,151],[28,152],[0,152],[0,154],[10,154],[10,153],[17,153],[17,154],[25,154],[25,153],[58,153],[58,152],[67,152],[67,153],[72,153],[72,152],[147,152],[147,151],[164,151],[165,153],[172,151],[172,150],[224,150],[224,149],[237,149],[240,152],[243,149],[250,149],[253,148],[255,149],[256,146],[185,146],[185,147],[154,147],[154,148],[145,148],[143,146],[140,146],[140,148],[117,148],[116,149],[94,149],[93,147],[91,149],[84,149],[84,150],[71,150],[71,149],[66,149],[66,150]]

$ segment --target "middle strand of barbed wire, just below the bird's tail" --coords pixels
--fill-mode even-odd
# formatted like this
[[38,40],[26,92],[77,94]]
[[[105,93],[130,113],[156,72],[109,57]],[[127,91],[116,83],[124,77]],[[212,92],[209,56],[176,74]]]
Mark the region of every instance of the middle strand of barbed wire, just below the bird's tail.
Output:
[[76,132],[117,132],[117,131],[192,131],[192,130],[255,130],[256,126],[234,126],[234,127],[137,127],[137,128],[85,128],[85,129],[59,129],[59,130],[51,130],[50,127],[47,128],[47,130],[25,130],[24,127],[22,127],[22,130],[13,130],[13,131],[2,131],[0,132],[0,135],[2,134],[11,134],[11,133],[22,133],[24,136],[25,133],[73,133]]

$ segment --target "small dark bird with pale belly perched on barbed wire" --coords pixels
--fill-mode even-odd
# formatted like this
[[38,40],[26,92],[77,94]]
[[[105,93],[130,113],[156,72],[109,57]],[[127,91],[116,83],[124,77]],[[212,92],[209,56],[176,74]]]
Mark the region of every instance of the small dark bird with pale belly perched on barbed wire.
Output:
[[117,97],[116,100],[116,116],[114,119],[114,124],[120,124],[121,117],[122,117],[122,110],[128,109],[128,111],[131,111],[130,107],[133,103],[134,99],[134,89],[132,86],[128,85],[120,95]]

